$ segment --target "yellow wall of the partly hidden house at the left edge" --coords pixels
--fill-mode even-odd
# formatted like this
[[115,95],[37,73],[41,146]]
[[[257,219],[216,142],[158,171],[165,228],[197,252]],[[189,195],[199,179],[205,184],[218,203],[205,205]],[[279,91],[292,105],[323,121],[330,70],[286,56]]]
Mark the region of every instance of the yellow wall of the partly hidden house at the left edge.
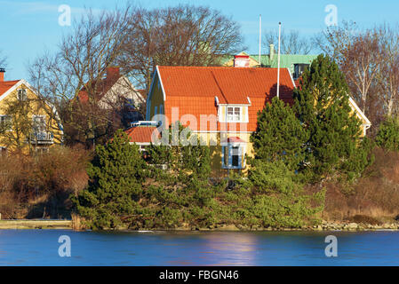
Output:
[[[0,114],[7,114],[7,106],[12,104],[13,101],[17,101],[17,94],[18,90],[20,89],[25,89],[27,91],[27,98],[29,101],[29,108],[31,109],[31,113],[28,114],[30,119],[33,118],[33,115],[44,115],[45,116],[45,122],[46,122],[46,127],[47,131],[52,132],[53,134],[53,144],[45,144],[45,145],[38,145],[38,146],[45,146],[45,147],[50,147],[54,145],[60,145],[62,143],[62,130],[60,129],[60,125],[57,122],[55,118],[55,114],[52,112],[52,107],[48,106],[47,104],[44,104],[43,102],[39,101],[37,98],[36,94],[31,91],[28,86],[25,84],[21,84],[16,90],[12,91],[7,97],[5,97],[3,100],[0,101]],[[7,136],[14,137],[16,136],[15,130],[11,130],[11,133],[7,133]],[[16,149],[15,145],[10,144],[11,141],[7,136],[4,136],[0,134],[0,146],[6,147],[7,151],[13,151]],[[26,137],[22,138],[23,140],[26,140]],[[34,149],[36,145],[31,145],[29,146],[28,143],[24,143],[26,146],[24,146],[23,151],[28,152],[29,147]]]

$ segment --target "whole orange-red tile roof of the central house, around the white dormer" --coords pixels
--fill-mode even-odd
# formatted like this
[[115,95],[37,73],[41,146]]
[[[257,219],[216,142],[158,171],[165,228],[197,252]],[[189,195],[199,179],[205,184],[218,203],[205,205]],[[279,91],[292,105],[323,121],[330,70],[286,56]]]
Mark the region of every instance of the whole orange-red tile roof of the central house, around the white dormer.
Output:
[[[164,86],[164,114],[169,123],[181,122],[181,116],[192,114],[198,125],[183,122],[191,130],[200,130],[201,114],[217,117],[219,104],[242,104],[248,107],[248,123],[228,123],[228,130],[254,131],[257,114],[276,94],[277,68],[249,67],[158,67]],[[280,69],[280,98],[291,102],[294,85],[286,68]],[[172,121],[172,108],[179,108]],[[193,117],[192,116],[192,117]],[[209,123],[208,123],[209,124]],[[222,125],[220,125],[222,124]],[[227,123],[217,123],[225,127]],[[201,128],[203,130],[203,128]],[[209,128],[207,128],[209,130]]]

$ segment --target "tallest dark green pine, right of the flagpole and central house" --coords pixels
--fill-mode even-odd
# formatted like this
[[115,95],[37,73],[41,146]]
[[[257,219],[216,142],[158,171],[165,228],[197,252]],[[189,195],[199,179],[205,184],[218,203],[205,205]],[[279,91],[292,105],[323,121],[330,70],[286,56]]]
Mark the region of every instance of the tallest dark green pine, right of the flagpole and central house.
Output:
[[349,106],[344,75],[328,56],[319,55],[294,91],[295,109],[309,132],[307,166],[315,179],[326,177],[363,151],[361,122]]

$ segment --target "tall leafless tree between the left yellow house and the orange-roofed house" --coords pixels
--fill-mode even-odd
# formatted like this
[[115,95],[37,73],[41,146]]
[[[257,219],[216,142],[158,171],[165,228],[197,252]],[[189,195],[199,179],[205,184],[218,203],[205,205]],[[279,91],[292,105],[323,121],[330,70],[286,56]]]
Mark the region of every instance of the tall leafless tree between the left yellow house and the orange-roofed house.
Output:
[[[112,112],[101,109],[101,80],[107,67],[116,64],[132,27],[131,6],[94,15],[88,11],[74,23],[73,31],[63,36],[59,51],[44,53],[30,64],[30,82],[37,93],[57,106],[69,138],[84,142],[107,135],[114,124]],[[85,102],[79,94],[84,91]]]

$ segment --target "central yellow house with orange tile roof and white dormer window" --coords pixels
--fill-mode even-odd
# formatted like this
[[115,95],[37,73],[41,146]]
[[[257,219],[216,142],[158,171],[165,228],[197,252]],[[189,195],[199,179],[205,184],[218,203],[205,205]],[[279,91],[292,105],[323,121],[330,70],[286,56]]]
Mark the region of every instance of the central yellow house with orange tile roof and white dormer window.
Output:
[[[155,142],[155,130],[162,133],[179,121],[210,147],[214,175],[247,170],[245,157],[253,155],[251,133],[259,111],[275,97],[276,86],[276,68],[158,66],[147,98],[149,124],[132,125],[126,133],[142,149]],[[290,70],[281,68],[280,99],[292,104],[294,88]],[[371,123],[353,99],[350,105],[365,134]],[[162,127],[156,128],[157,123]]]

